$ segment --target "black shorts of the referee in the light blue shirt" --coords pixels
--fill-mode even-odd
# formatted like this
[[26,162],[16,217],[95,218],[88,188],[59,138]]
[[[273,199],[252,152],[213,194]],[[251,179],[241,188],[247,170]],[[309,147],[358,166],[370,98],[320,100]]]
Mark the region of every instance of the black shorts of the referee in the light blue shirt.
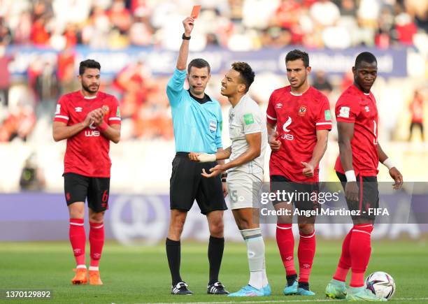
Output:
[[227,210],[220,176],[204,178],[201,175],[202,168],[208,172],[216,165],[217,161],[198,163],[189,159],[188,152],[177,152],[169,180],[170,208],[189,211],[196,199],[203,215]]

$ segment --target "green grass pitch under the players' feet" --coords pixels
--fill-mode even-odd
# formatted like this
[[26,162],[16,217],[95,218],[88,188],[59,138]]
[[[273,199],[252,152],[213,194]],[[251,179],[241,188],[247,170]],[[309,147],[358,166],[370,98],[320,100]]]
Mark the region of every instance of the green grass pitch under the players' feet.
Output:
[[[266,242],[266,267],[273,295],[262,298],[208,296],[207,244],[184,241],[181,274],[193,296],[172,296],[164,245],[123,247],[108,242],[101,259],[104,286],[73,286],[73,256],[69,243],[0,243],[0,289],[50,289],[51,300],[5,300],[0,303],[311,303],[324,298],[334,273],[340,241],[319,239],[311,275],[315,297],[283,296],[285,271],[276,243]],[[297,249],[297,246],[296,246]],[[87,247],[87,255],[89,248]],[[297,257],[297,255],[296,255]],[[295,260],[297,262],[297,258]],[[428,245],[426,240],[373,241],[367,273],[383,270],[394,277],[394,303],[428,303]],[[244,243],[226,243],[220,280],[229,291],[248,282]]]

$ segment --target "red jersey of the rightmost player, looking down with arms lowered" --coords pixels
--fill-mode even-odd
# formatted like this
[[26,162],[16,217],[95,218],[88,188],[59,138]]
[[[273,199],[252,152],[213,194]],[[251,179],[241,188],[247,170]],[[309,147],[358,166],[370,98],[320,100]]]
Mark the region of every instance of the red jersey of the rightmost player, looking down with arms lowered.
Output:
[[[378,108],[373,94],[351,85],[339,97],[335,112],[337,122],[354,123],[351,147],[355,175],[378,175]],[[334,169],[344,173],[340,157]]]

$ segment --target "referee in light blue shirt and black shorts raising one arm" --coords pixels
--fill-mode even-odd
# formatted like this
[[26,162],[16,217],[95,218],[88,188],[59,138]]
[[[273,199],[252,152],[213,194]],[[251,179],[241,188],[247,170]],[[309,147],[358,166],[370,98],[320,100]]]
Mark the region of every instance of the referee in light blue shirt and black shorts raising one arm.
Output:
[[[218,280],[222,262],[223,211],[227,210],[224,196],[227,195],[224,183],[217,176],[202,178],[201,171],[207,171],[217,162],[197,163],[190,160],[189,153],[215,153],[222,151],[222,111],[220,103],[205,94],[210,80],[210,65],[204,59],[193,59],[186,64],[189,55],[190,34],[194,27],[194,18],[183,20],[185,32],[178,54],[177,66],[166,86],[166,94],[171,104],[174,136],[176,139],[176,157],[172,162],[170,180],[171,219],[168,237],[166,238],[166,256],[171,270],[171,294],[187,295],[192,291],[180,276],[180,236],[187,211],[192,208],[196,199],[201,213],[208,219],[210,240],[208,244],[208,261],[210,277],[208,294],[229,294]],[[189,90],[183,89],[185,79]]]

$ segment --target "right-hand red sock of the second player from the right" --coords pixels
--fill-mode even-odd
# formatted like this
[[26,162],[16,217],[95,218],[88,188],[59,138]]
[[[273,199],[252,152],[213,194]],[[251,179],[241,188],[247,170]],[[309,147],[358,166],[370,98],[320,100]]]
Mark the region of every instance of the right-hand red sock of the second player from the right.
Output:
[[299,258],[299,282],[309,282],[313,257],[315,256],[315,245],[315,231],[310,234],[300,233],[299,249],[297,249],[297,256]]

